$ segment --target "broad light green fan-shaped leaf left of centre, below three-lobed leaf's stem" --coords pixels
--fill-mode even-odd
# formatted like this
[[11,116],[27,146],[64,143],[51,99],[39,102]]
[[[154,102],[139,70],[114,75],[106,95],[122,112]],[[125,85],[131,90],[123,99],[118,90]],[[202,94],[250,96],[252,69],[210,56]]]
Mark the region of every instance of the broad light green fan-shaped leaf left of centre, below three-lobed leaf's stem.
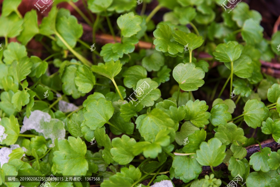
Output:
[[88,102],[83,109],[84,123],[91,130],[102,127],[109,121],[113,114],[114,107],[112,102],[106,101],[104,98]]

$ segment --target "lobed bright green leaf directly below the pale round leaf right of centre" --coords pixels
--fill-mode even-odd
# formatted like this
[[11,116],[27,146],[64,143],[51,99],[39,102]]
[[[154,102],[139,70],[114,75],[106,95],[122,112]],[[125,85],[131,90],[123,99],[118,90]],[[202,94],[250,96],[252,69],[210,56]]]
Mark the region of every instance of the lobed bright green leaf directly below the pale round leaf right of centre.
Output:
[[205,101],[189,100],[185,107],[187,110],[185,120],[190,120],[197,127],[204,127],[209,123],[208,119],[211,114],[207,112],[208,105]]

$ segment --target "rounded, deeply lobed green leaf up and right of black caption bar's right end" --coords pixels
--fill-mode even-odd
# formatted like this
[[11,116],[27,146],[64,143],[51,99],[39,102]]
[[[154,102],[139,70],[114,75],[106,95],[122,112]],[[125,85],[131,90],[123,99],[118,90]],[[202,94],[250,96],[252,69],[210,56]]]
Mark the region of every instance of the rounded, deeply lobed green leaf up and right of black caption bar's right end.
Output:
[[123,135],[122,138],[114,138],[112,140],[112,149],[110,150],[113,155],[113,159],[119,162],[120,165],[126,165],[130,163],[133,158],[133,145],[136,144],[134,138],[130,138],[127,135]]

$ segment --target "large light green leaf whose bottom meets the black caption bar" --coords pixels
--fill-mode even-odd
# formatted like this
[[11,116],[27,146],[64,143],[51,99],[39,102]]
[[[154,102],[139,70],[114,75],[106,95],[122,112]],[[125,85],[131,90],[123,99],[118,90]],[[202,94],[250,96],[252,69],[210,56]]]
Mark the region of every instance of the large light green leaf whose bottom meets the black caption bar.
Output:
[[85,159],[86,144],[81,138],[68,137],[58,141],[58,151],[54,152],[53,167],[63,175],[86,175],[88,163]]

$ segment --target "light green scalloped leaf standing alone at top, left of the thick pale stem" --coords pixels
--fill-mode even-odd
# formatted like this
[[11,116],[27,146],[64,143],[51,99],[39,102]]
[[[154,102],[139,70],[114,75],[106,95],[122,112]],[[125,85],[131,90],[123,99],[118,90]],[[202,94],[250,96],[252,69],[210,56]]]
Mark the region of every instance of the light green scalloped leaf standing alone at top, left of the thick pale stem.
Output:
[[133,12],[126,13],[119,16],[117,24],[124,37],[130,37],[136,35],[141,30],[140,24],[142,23],[142,17],[134,15]]

